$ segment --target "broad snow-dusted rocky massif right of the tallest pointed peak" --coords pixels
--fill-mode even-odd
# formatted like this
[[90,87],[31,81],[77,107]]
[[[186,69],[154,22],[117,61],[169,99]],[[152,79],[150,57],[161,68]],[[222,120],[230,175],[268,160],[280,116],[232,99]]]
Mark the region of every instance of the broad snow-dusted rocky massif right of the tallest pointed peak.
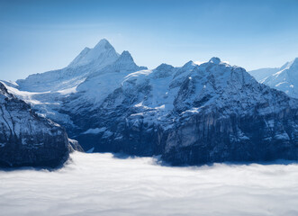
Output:
[[[184,73],[163,68],[134,74],[98,109],[72,116],[83,128],[100,129],[78,133],[80,143],[100,152],[162,155],[173,165],[298,159],[297,100],[219,58]],[[165,109],[152,106],[158,79],[167,85],[167,96],[158,99]]]

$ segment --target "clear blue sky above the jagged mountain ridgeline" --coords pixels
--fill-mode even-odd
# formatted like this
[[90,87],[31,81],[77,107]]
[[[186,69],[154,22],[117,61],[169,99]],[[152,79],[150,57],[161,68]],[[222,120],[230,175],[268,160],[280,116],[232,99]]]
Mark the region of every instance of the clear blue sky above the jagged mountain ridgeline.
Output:
[[66,67],[103,38],[149,68],[280,67],[298,57],[298,0],[0,0],[0,79]]

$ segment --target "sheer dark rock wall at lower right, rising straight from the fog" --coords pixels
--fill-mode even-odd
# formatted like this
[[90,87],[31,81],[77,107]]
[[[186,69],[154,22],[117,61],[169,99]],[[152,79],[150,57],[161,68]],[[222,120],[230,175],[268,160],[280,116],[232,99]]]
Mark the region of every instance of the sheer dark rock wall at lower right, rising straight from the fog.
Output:
[[[298,159],[297,111],[281,115],[194,115],[167,134],[163,157],[173,164]],[[275,125],[268,126],[268,121]]]

